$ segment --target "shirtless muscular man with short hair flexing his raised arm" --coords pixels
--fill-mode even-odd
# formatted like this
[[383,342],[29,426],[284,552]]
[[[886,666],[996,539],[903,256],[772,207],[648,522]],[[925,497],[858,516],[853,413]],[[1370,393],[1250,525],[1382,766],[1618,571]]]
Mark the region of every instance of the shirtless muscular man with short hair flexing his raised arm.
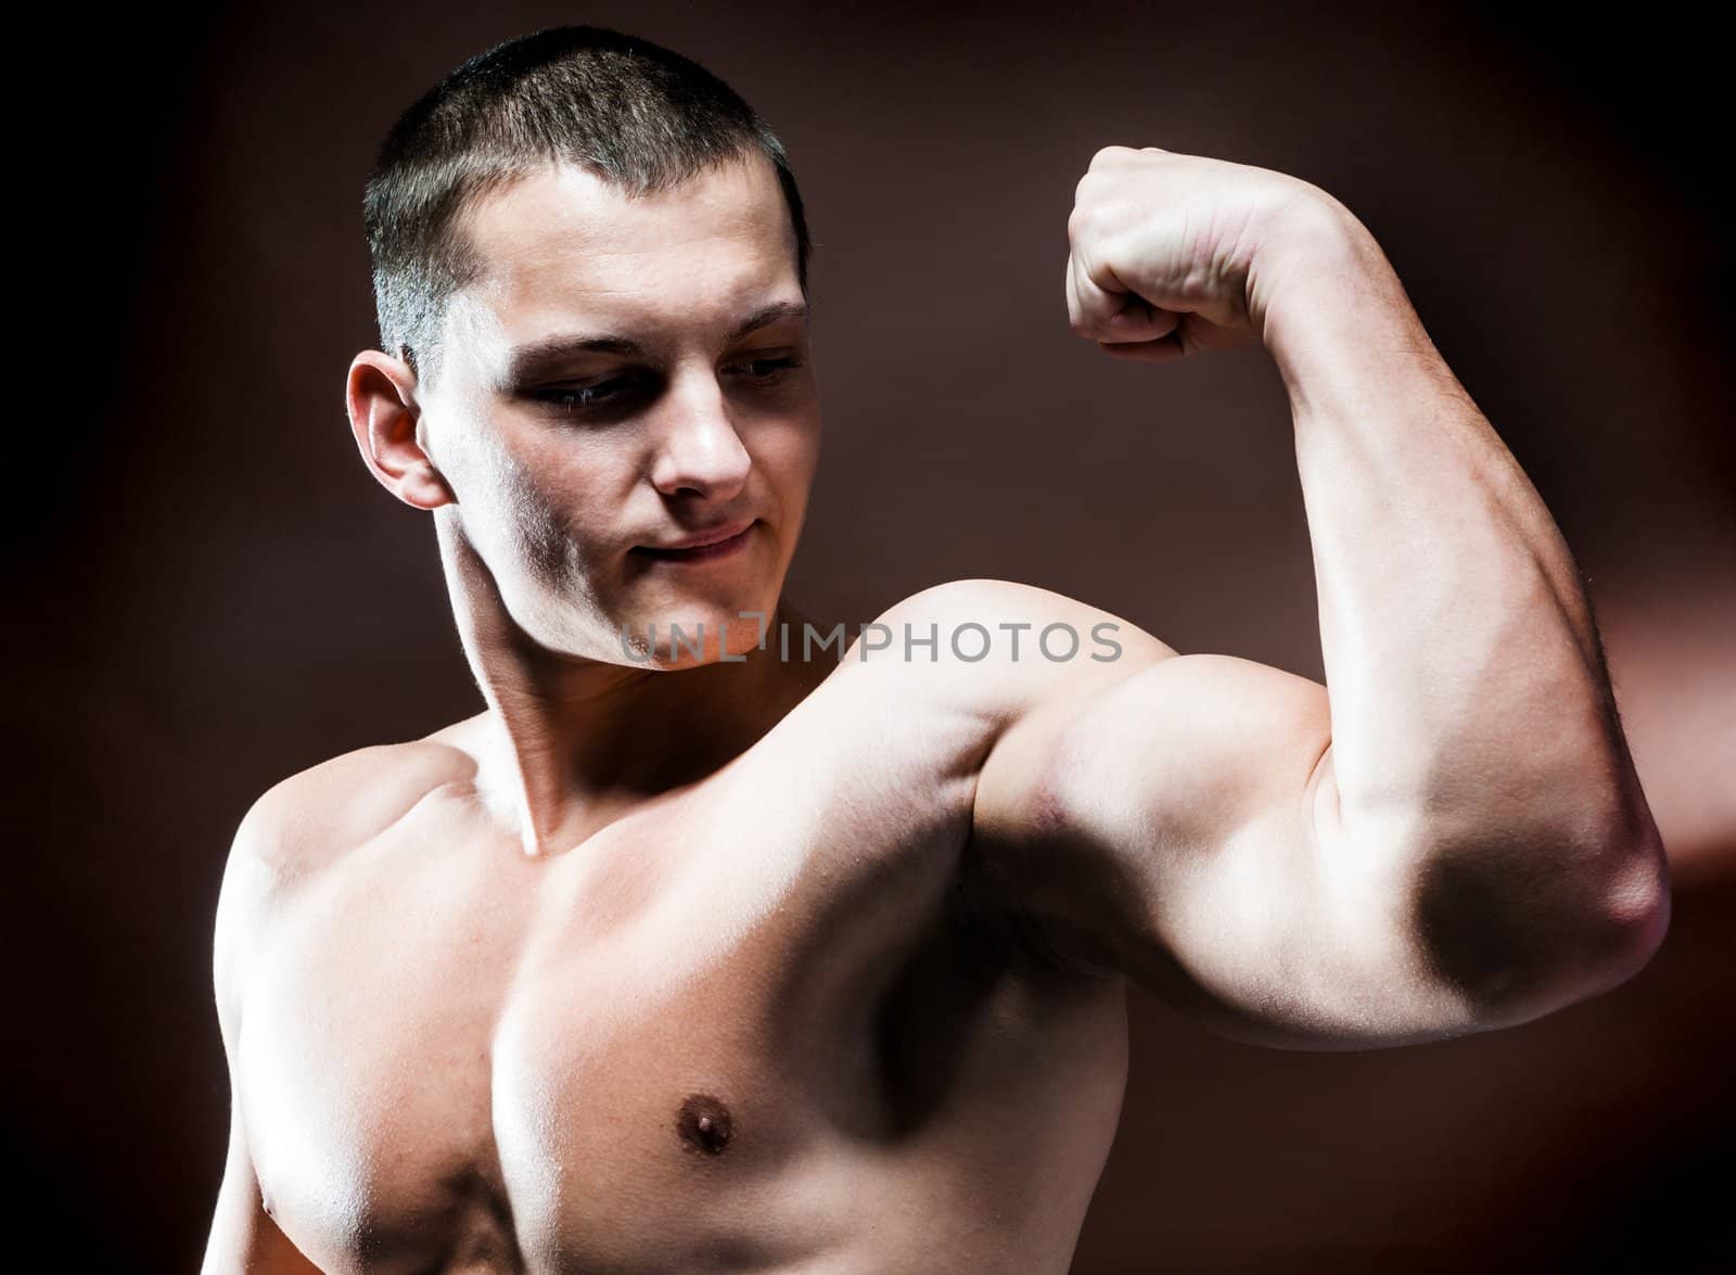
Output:
[[1064,1272],[1130,985],[1370,1047],[1536,1018],[1661,940],[1561,533],[1293,177],[1099,151],[1066,301],[1115,358],[1276,360],[1328,686],[1002,580],[802,658],[781,165],[703,71],[587,30],[467,63],[387,141],[396,353],[356,356],[349,413],[432,512],[486,709],[236,834],[207,1272]]

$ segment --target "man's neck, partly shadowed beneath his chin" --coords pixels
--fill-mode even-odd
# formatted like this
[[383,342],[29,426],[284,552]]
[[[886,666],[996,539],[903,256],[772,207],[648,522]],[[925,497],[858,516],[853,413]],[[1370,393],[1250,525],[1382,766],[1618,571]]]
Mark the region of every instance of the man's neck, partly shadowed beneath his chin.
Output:
[[[554,651],[507,613],[486,565],[441,528],[458,636],[488,702],[477,790],[531,858],[559,855],[627,809],[698,783],[745,752],[828,672],[778,658],[656,671]],[[799,625],[779,603],[771,624]],[[771,629],[776,632],[776,627]]]

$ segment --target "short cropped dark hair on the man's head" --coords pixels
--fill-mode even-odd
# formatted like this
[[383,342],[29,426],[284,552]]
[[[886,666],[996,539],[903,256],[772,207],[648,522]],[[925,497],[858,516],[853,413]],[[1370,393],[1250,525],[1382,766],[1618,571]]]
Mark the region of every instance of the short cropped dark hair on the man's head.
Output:
[[566,162],[637,198],[755,151],[778,172],[806,295],[807,219],[783,142],[715,75],[601,26],[547,28],[477,54],[399,116],[368,177],[380,347],[434,380],[446,306],[483,269],[462,231],[483,195]]

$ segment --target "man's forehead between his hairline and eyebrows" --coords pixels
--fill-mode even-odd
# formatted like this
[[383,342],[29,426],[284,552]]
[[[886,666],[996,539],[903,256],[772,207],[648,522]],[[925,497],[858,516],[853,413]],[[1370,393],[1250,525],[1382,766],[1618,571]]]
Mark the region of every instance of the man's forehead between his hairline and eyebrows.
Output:
[[481,200],[465,233],[483,269],[453,318],[484,361],[575,327],[654,344],[800,301],[783,191],[757,155],[637,198],[550,165]]

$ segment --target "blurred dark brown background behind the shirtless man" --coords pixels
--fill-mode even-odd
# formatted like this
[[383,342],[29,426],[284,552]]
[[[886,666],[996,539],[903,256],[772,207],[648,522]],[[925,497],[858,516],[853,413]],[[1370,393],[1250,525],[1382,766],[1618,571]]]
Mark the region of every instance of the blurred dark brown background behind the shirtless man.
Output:
[[366,478],[344,422],[344,368],[375,340],[361,182],[434,78],[566,21],[696,57],[793,156],[828,420],[797,599],[868,618],[925,584],[1010,577],[1184,651],[1323,676],[1269,361],[1120,365],[1068,332],[1066,214],[1109,142],[1281,168],[1356,210],[1590,578],[1677,869],[1663,952],[1543,1021],[1366,1054],[1229,1044],[1141,1002],[1075,1270],[1712,1266],[1727,1199],[1693,1188],[1727,1169],[1736,1070],[1733,278],[1712,195],[1724,71],[1684,19],[424,3],[122,21],[35,57],[56,89],[17,122],[14,170],[47,214],[16,264],[52,274],[21,294],[35,340],[5,471],[5,1094],[40,1190],[26,1230],[64,1237],[68,1266],[196,1265],[227,1119],[210,919],[250,801],[476,707],[431,528]]

